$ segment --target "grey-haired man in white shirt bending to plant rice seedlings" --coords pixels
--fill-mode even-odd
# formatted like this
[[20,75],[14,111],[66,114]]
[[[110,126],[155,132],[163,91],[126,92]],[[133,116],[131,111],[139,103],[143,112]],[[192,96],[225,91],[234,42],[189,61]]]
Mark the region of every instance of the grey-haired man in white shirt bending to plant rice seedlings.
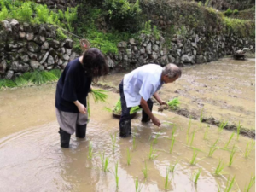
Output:
[[125,75],[119,84],[122,105],[119,121],[120,137],[131,135],[130,109],[138,105],[143,108],[142,122],[146,123],[151,119],[154,125],[160,126],[160,120],[152,113],[153,102],[150,97],[154,96],[160,105],[166,104],[160,99],[157,91],[163,84],[176,81],[181,74],[181,69],[174,64],[167,64],[166,67],[148,64]]

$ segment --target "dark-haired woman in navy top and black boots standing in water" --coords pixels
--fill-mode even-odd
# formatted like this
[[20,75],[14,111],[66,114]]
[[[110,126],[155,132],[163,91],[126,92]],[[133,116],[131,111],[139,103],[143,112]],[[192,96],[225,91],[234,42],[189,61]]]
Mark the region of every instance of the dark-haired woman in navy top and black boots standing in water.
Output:
[[68,148],[70,136],[86,135],[86,96],[91,82],[108,74],[108,65],[99,49],[90,48],[84,55],[70,61],[58,81],[55,107],[60,125],[61,148]]

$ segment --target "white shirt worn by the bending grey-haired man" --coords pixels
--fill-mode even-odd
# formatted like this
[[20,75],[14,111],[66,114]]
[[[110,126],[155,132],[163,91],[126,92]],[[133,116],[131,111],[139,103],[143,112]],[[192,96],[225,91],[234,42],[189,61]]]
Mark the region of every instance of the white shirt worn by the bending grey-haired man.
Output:
[[139,105],[142,97],[148,101],[157,90],[160,90],[163,85],[162,70],[159,65],[148,64],[125,74],[124,94],[127,108]]

